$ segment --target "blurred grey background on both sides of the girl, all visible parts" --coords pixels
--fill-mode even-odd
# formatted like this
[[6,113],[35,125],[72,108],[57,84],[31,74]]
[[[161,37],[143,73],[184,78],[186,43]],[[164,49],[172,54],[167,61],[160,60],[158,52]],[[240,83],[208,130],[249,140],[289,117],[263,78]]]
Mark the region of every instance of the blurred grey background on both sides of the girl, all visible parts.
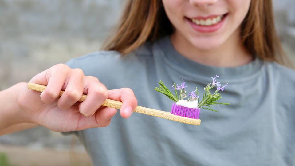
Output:
[[[295,1],[273,0],[278,34],[295,59]],[[98,51],[120,0],[0,0],[0,90],[71,58]],[[91,165],[74,136],[46,128],[0,136],[2,165]]]

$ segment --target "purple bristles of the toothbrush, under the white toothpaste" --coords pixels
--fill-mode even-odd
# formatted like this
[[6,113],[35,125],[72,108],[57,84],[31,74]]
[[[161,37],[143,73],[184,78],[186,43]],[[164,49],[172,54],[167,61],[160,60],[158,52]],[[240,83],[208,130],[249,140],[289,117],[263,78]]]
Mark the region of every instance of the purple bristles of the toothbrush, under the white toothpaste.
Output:
[[200,108],[188,108],[176,103],[172,104],[171,114],[178,115],[181,117],[188,117],[193,119],[199,119]]

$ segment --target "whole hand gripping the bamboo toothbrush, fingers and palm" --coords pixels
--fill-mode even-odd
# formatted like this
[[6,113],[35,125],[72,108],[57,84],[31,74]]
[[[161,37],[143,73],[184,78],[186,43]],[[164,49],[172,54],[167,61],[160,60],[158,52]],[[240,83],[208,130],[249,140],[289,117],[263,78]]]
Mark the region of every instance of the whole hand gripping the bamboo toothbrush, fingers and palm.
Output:
[[[37,123],[53,131],[66,132],[105,127],[117,109],[101,106],[108,98],[122,101],[120,114],[128,118],[137,106],[129,88],[108,90],[96,77],[85,76],[81,69],[55,65],[33,77],[30,82],[47,85],[41,93],[25,85],[18,97],[23,122]],[[58,98],[61,90],[65,93]],[[82,94],[85,101],[77,103]]]

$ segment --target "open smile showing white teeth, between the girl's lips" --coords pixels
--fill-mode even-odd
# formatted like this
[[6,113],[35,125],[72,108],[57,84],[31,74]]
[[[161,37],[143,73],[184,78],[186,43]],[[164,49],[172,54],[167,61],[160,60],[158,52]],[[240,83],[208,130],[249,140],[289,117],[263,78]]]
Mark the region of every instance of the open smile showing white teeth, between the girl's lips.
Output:
[[210,17],[210,18],[188,18],[191,20],[191,22],[197,24],[197,25],[201,25],[201,26],[212,26],[215,24],[218,24],[219,22],[222,21],[222,19],[227,15],[223,14],[223,15],[218,15],[218,16],[214,16],[214,17]]

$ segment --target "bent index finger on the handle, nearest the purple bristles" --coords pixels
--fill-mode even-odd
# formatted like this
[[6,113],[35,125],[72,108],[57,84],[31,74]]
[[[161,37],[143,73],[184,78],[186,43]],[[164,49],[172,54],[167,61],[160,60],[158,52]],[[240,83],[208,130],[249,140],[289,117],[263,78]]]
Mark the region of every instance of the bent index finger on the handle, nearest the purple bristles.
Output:
[[123,118],[128,118],[136,109],[137,100],[130,88],[113,89],[108,91],[108,99],[122,101],[120,115]]

